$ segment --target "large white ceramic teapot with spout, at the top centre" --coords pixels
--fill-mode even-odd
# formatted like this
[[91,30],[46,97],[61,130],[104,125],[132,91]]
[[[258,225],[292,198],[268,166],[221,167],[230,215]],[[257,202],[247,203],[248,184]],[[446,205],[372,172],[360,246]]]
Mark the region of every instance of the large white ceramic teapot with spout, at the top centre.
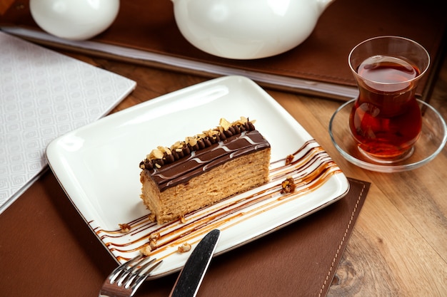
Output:
[[333,0],[172,0],[176,24],[214,56],[275,56],[302,43]]

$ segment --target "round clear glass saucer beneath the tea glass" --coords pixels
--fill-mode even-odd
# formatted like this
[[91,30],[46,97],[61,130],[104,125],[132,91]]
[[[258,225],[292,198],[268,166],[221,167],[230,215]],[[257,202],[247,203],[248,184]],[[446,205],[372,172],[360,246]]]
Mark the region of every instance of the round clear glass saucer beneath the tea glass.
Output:
[[351,113],[354,101],[351,100],[344,103],[333,113],[329,122],[329,135],[331,135],[333,145],[338,152],[346,160],[358,167],[376,172],[413,170],[433,160],[446,145],[446,122],[431,105],[418,100],[423,113],[422,132],[421,137],[416,142],[413,154],[401,162],[374,162],[358,150],[358,146],[349,130],[349,113]]

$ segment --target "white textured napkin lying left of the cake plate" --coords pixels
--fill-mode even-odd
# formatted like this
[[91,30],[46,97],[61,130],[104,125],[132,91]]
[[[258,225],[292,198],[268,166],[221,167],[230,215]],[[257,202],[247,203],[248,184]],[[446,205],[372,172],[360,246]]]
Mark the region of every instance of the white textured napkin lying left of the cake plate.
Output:
[[46,169],[46,145],[110,112],[136,83],[0,31],[0,213]]

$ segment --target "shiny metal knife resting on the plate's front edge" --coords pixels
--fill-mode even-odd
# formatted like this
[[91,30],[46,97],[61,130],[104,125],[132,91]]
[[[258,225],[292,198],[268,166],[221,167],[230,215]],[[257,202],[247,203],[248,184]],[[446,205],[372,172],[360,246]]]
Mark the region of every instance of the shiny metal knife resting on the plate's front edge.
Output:
[[211,262],[221,231],[214,229],[201,239],[186,264],[181,269],[179,278],[172,288],[170,297],[194,297],[204,279],[206,269]]

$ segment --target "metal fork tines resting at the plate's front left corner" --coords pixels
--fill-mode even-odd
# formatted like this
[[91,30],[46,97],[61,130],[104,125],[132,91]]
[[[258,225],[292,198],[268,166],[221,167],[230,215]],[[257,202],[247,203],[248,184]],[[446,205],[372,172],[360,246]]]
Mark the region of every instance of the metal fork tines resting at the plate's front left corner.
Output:
[[149,273],[162,261],[144,255],[136,256],[112,271],[104,281],[99,297],[132,297]]

